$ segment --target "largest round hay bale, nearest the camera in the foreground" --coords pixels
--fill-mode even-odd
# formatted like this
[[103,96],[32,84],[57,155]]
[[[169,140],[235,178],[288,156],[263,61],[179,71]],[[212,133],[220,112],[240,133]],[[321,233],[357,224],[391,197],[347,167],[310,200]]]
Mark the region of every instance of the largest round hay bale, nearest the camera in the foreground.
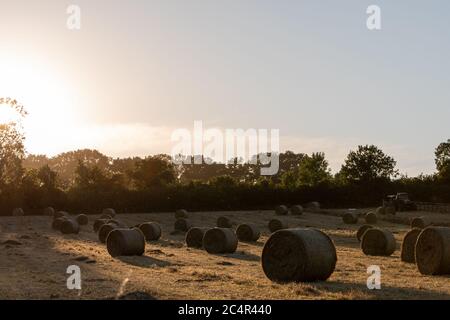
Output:
[[262,267],[275,282],[328,279],[336,267],[336,248],[316,229],[286,229],[273,233],[264,245]]

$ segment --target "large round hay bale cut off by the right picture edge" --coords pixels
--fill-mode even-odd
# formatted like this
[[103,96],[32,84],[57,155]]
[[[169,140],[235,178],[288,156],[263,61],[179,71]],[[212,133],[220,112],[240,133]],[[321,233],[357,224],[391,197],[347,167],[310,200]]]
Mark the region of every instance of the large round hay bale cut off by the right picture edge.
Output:
[[416,243],[416,264],[421,274],[450,274],[450,228],[422,230]]

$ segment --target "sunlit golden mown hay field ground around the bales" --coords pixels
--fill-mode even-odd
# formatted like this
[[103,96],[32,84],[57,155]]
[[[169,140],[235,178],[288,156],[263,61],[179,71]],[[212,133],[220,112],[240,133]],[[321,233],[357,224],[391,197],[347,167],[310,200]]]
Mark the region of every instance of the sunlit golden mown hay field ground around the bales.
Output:
[[[363,210],[367,211],[367,210]],[[338,262],[326,282],[276,284],[264,275],[260,255],[269,236],[273,211],[195,212],[195,226],[216,224],[227,216],[236,227],[252,222],[261,227],[255,244],[239,243],[237,252],[210,255],[188,249],[184,234],[172,234],[173,213],[119,214],[128,225],[145,221],[161,224],[162,238],[147,243],[142,257],[111,258],[92,229],[94,218],[78,235],[62,235],[50,228],[50,217],[0,218],[1,299],[115,299],[130,296],[155,299],[449,299],[450,276],[422,276],[414,264],[400,261],[400,242],[409,226],[387,221],[378,226],[393,231],[397,250],[390,257],[368,257],[359,248],[356,230],[363,222],[345,225],[339,210],[286,216],[290,227],[314,227],[333,239]],[[400,213],[409,219],[426,213]],[[450,217],[435,219],[450,223]],[[69,290],[66,269],[78,265],[82,290]],[[381,267],[381,290],[366,286],[367,267]]]

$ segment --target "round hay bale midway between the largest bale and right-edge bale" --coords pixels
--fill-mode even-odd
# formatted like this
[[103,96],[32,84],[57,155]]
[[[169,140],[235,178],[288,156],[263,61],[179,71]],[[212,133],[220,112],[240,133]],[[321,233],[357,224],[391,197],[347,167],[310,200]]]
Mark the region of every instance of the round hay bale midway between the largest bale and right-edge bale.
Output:
[[390,256],[395,247],[394,235],[385,229],[368,229],[361,239],[361,249],[368,256]]

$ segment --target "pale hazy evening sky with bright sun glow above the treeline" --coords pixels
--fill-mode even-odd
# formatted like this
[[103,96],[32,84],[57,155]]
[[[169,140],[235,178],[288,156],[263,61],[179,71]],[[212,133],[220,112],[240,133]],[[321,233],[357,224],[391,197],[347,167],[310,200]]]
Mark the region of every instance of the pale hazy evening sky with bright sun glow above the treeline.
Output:
[[[66,9],[81,8],[81,30]],[[381,8],[382,30],[366,28]],[[0,96],[29,110],[29,152],[169,153],[170,135],[279,128],[336,171],[376,144],[434,171],[450,138],[450,2],[0,0]]]

